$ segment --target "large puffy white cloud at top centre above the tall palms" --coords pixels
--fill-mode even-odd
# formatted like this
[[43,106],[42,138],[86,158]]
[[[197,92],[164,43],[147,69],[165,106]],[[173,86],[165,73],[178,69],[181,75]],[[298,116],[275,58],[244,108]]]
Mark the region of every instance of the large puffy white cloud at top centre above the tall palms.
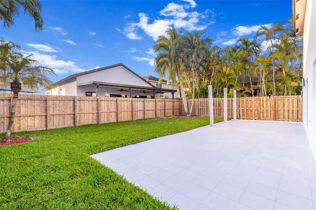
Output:
[[206,29],[207,26],[213,23],[213,21],[208,21],[208,23],[201,22],[202,19],[207,18],[208,13],[213,13],[213,11],[205,10],[204,13],[192,11],[192,8],[197,5],[196,2],[194,0],[183,1],[189,2],[190,4],[168,3],[159,12],[160,16],[164,18],[157,18],[153,20],[152,23],[149,23],[149,17],[145,13],[140,12],[138,14],[139,22],[127,23],[123,33],[130,39],[141,39],[142,37],[137,34],[137,30],[142,29],[146,35],[156,40],[158,35],[164,35],[169,27],[176,29],[183,28],[187,31],[199,31]]

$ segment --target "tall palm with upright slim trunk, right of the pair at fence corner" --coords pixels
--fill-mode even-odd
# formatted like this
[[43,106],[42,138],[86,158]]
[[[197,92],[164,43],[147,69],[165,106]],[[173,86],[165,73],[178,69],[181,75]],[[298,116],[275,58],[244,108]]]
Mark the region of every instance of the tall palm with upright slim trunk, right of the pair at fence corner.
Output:
[[211,44],[212,39],[209,37],[201,38],[204,32],[195,32],[193,35],[187,33],[185,38],[187,40],[187,47],[189,49],[189,60],[191,61],[191,70],[192,70],[192,102],[189,113],[192,113],[195,97],[195,73],[197,71],[197,63],[202,59],[203,56],[208,54],[208,46]]

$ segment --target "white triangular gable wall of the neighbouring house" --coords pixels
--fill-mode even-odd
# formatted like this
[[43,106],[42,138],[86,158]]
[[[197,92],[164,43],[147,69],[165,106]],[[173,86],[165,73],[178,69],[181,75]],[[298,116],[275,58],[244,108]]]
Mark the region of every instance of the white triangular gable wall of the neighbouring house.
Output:
[[114,67],[112,69],[100,70],[93,73],[84,74],[77,77],[77,83],[84,83],[90,81],[110,82],[125,85],[136,85],[151,87],[147,82],[142,81],[141,78],[126,70],[122,66]]

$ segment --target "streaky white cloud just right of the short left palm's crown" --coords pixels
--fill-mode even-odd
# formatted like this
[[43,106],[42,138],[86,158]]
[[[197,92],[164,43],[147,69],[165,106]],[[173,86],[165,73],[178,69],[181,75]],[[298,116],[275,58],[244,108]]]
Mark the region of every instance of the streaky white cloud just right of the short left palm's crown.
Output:
[[39,51],[22,51],[22,53],[24,55],[32,54],[34,59],[39,62],[39,65],[51,68],[56,74],[63,74],[69,71],[75,73],[85,71],[84,69],[79,68],[75,62],[60,60],[56,55],[45,55],[41,54]]

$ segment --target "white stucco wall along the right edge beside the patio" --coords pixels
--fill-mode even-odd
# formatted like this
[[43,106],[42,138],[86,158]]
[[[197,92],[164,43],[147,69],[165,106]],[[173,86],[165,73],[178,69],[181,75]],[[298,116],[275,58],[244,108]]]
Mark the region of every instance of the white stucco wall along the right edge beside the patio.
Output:
[[307,0],[303,32],[303,123],[316,160],[316,0]]

